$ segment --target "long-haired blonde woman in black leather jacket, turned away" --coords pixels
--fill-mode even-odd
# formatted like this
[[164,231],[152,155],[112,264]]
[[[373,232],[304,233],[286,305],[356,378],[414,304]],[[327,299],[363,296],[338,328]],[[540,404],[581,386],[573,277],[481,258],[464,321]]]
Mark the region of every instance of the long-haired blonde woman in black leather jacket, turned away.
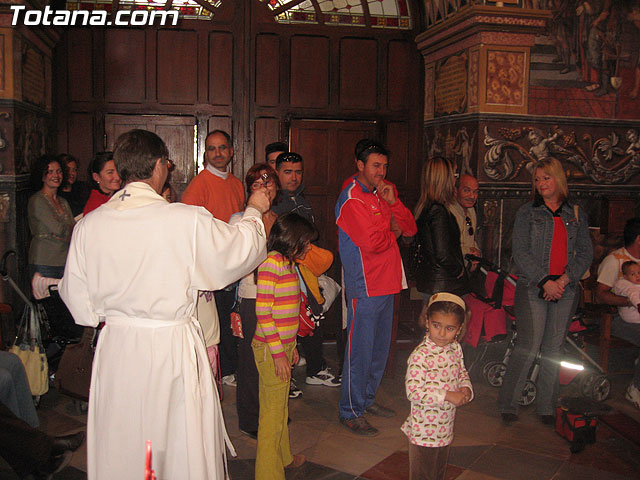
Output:
[[425,301],[438,292],[468,293],[468,276],[460,248],[460,230],[448,205],[454,200],[455,172],[451,163],[435,157],[422,169],[421,194],[414,212],[418,233],[418,291]]

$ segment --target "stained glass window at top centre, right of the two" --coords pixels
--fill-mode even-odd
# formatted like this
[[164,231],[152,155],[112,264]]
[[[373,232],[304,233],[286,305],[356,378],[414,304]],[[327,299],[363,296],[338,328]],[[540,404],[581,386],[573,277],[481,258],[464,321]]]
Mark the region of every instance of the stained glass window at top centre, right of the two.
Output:
[[[411,28],[407,0],[304,0],[287,8],[295,0],[261,0],[271,10],[278,10],[279,23],[321,23],[326,25],[366,26],[365,7],[368,6],[371,26],[376,28]],[[316,7],[317,6],[317,7]]]

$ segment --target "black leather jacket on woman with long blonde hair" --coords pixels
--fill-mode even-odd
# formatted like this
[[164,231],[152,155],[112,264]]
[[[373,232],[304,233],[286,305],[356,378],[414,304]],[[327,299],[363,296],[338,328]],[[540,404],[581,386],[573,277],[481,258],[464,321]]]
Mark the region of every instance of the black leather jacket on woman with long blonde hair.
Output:
[[[434,203],[420,214],[416,224],[420,242],[420,264],[416,271],[418,291],[469,292],[469,278],[460,249],[460,230],[455,217],[441,203]],[[460,273],[463,275],[458,278]]]

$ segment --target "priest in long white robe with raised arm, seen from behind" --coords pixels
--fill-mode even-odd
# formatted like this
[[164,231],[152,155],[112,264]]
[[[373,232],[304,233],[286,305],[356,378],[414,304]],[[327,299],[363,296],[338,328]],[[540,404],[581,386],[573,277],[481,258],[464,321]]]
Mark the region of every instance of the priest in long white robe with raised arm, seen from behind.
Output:
[[126,182],[75,227],[60,295],[76,323],[104,321],[93,361],[89,480],[142,480],[151,440],[158,480],[223,479],[232,454],[194,319],[198,290],[218,290],[266,258],[265,191],[240,223],[160,196],[170,160],[154,133],[132,130],[114,150]]

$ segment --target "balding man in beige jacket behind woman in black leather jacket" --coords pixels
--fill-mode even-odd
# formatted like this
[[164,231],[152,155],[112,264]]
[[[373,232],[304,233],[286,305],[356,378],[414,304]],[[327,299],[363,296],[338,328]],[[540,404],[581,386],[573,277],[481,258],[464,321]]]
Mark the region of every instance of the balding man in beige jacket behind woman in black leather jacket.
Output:
[[[449,206],[460,228],[460,247],[462,255],[481,256],[476,240],[477,218],[475,205],[478,201],[478,181],[471,175],[463,174],[456,181],[456,200]],[[472,262],[471,270],[475,270],[477,262]]]

